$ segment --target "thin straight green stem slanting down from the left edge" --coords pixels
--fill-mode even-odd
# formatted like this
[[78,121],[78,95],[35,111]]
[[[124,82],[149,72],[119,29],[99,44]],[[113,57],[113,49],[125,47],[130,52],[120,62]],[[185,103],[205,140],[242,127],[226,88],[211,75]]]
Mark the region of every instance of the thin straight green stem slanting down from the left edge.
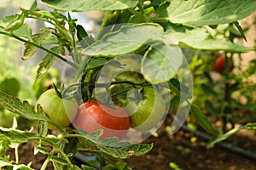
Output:
[[37,48],[40,48],[40,49],[43,49],[44,51],[46,51],[47,53],[49,54],[53,54],[55,55],[55,57],[57,57],[58,59],[61,59],[62,61],[66,62],[68,65],[71,65],[73,66],[75,69],[79,69],[79,65],[73,63],[72,61],[68,60],[68,59],[65,59],[63,58],[61,55],[59,54],[55,54],[55,52],[49,50],[48,48],[44,48],[43,46],[35,43],[35,42],[31,42],[31,41],[27,41],[26,39],[23,39],[21,37],[18,37],[18,36],[15,36],[15,34],[13,33],[9,33],[9,32],[6,32],[6,31],[0,31],[0,34],[3,34],[3,35],[6,35],[6,36],[9,36],[9,37],[14,37],[15,39],[19,40],[20,42],[26,42],[28,44],[31,44]]

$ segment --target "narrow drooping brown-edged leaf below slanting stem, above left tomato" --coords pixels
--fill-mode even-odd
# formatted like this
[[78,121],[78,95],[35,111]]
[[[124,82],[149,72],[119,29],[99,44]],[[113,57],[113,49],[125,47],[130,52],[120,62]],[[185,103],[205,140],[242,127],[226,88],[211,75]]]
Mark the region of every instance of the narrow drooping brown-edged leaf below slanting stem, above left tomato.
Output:
[[[51,51],[55,52],[55,54],[60,54],[61,53],[61,46],[57,46],[54,48],[50,48]],[[35,82],[38,82],[38,80],[44,76],[45,73],[49,70],[50,66],[53,64],[53,62],[57,58],[53,54],[46,54],[44,56],[44,59],[41,61],[39,64],[38,72],[37,72],[37,77]]]

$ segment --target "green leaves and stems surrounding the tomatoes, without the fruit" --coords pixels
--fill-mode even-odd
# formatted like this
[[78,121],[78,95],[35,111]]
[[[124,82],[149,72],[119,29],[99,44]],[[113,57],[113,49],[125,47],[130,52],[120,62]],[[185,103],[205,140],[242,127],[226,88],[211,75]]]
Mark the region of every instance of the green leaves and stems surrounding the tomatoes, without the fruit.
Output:
[[[49,84],[46,86],[46,82],[50,80],[50,84],[55,82],[56,87],[62,88],[63,95],[67,98],[75,98],[79,103],[96,98],[97,85],[103,88],[102,91],[105,90],[107,93],[111,91],[112,96],[102,93],[107,101],[113,97],[113,102],[125,105],[127,103],[125,99],[131,88],[141,89],[154,84],[163,89],[163,96],[173,93],[173,103],[170,104],[170,99],[166,97],[166,105],[176,107],[181,101],[191,105],[190,100],[194,99],[198,107],[191,105],[191,116],[208,133],[213,133],[213,129],[205,115],[206,111],[215,113],[215,116],[219,111],[221,115],[216,117],[225,116],[234,123],[236,121],[230,116],[234,111],[232,106],[242,108],[245,105],[234,99],[233,95],[239,93],[246,96],[248,104],[254,104],[256,100],[247,93],[248,86],[244,86],[241,81],[243,77],[251,77],[254,74],[255,62],[252,62],[252,66],[242,76],[230,76],[228,69],[224,71],[221,75],[224,84],[230,83],[226,86],[229,91],[224,95],[219,94],[218,91],[224,86],[215,84],[209,73],[213,54],[221,51],[232,58],[235,53],[253,50],[236,43],[235,38],[246,39],[239,20],[255,11],[255,1],[80,0],[74,3],[67,0],[42,0],[42,3],[54,10],[41,10],[38,8],[38,1],[34,1],[31,8],[20,8],[19,14],[11,14],[0,20],[1,35],[15,38],[25,44],[21,59],[28,60],[35,57],[39,49],[46,52],[38,64],[38,70],[35,71],[35,83],[30,84],[32,87],[26,87],[28,90],[33,88],[34,96],[27,98],[37,99],[47,88],[51,88]],[[83,26],[77,25],[78,20],[71,17],[71,12],[91,10],[106,12],[104,18],[99,21],[102,24],[101,29],[95,36],[88,33]],[[67,14],[61,11],[66,11]],[[48,25],[34,31],[28,19],[44,21]],[[219,36],[218,29],[222,27],[224,30],[221,30]],[[0,52],[4,51],[0,49]],[[16,51],[16,48],[13,51]],[[183,57],[183,53],[186,58]],[[139,55],[142,57],[137,57]],[[124,59],[119,61],[119,57]],[[1,58],[9,64],[7,62],[9,58],[4,55]],[[184,59],[189,60],[190,69],[194,73],[194,98],[192,98],[194,89],[189,89],[191,87],[177,76],[177,71],[183,69]],[[56,60],[61,60],[75,71],[73,82],[67,87],[66,84],[65,86],[63,83],[59,84],[59,74],[52,69]],[[134,68],[130,72],[111,77],[111,82],[97,83],[97,75],[106,65],[111,68],[111,71],[102,73],[106,74],[107,78],[111,77],[114,71],[127,71],[125,69],[129,68],[129,65]],[[8,69],[1,68],[1,74],[5,70]],[[14,65],[11,67],[11,72],[20,75],[19,71]],[[140,71],[142,74],[134,74],[134,71]],[[26,74],[26,71],[22,74]],[[3,80],[0,80],[0,105],[3,106],[0,109],[11,111],[17,116],[35,122],[37,133],[17,130],[15,125],[11,128],[0,127],[1,168],[32,169],[30,165],[20,165],[19,161],[14,162],[8,157],[3,157],[9,147],[14,147],[18,151],[20,144],[30,140],[36,143],[35,153],[40,152],[47,156],[41,167],[42,170],[46,169],[49,161],[53,163],[55,169],[96,169],[96,166],[100,166],[100,169],[129,169],[122,159],[142,156],[152,149],[153,144],[131,144],[120,142],[117,138],[100,139],[101,130],[86,133],[72,126],[61,129],[56,125],[60,135],[49,134],[48,123],[55,125],[55,122],[49,120],[40,105],[36,112],[28,101],[21,102],[19,94],[25,91],[22,87],[23,82],[17,75],[11,76],[4,74]],[[212,88],[212,85],[216,86]],[[250,88],[254,89],[255,85],[251,85]],[[212,102],[217,104],[212,105]],[[254,109],[255,106],[252,108]],[[234,128],[213,140],[211,144],[227,139],[241,129],[255,129],[255,124],[247,123]],[[94,160],[96,163],[86,162],[86,165],[75,166],[71,160],[77,152],[95,155],[98,160]],[[18,157],[16,160],[19,160]],[[170,167],[179,169],[173,162],[170,163]]]

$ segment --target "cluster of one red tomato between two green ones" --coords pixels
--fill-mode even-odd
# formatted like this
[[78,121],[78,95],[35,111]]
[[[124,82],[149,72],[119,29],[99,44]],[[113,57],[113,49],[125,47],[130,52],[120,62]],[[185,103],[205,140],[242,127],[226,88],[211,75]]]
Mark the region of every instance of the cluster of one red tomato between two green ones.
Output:
[[[165,101],[154,88],[145,87],[142,92],[143,99],[122,108],[102,105],[96,100],[85,101],[78,106],[75,99],[61,99],[55,89],[49,89],[39,97],[36,111],[38,104],[41,105],[49,120],[61,128],[72,123],[74,128],[88,133],[103,129],[101,139],[122,139],[130,127],[139,131],[155,127],[165,113]],[[49,124],[49,129],[56,127]]]

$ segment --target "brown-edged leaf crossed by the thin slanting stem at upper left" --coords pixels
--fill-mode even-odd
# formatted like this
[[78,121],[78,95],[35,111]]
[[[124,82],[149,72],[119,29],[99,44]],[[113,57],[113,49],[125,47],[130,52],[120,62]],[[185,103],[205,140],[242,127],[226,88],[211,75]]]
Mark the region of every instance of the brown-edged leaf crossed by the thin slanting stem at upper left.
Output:
[[[41,44],[45,38],[47,38],[49,36],[51,32],[50,31],[44,31],[44,32],[40,32],[38,34],[34,34],[32,35],[32,42],[35,42],[37,44]],[[23,52],[23,56],[21,59],[26,60],[32,57],[33,54],[36,53],[37,51],[37,47],[30,44],[30,43],[25,43],[25,49]]]

